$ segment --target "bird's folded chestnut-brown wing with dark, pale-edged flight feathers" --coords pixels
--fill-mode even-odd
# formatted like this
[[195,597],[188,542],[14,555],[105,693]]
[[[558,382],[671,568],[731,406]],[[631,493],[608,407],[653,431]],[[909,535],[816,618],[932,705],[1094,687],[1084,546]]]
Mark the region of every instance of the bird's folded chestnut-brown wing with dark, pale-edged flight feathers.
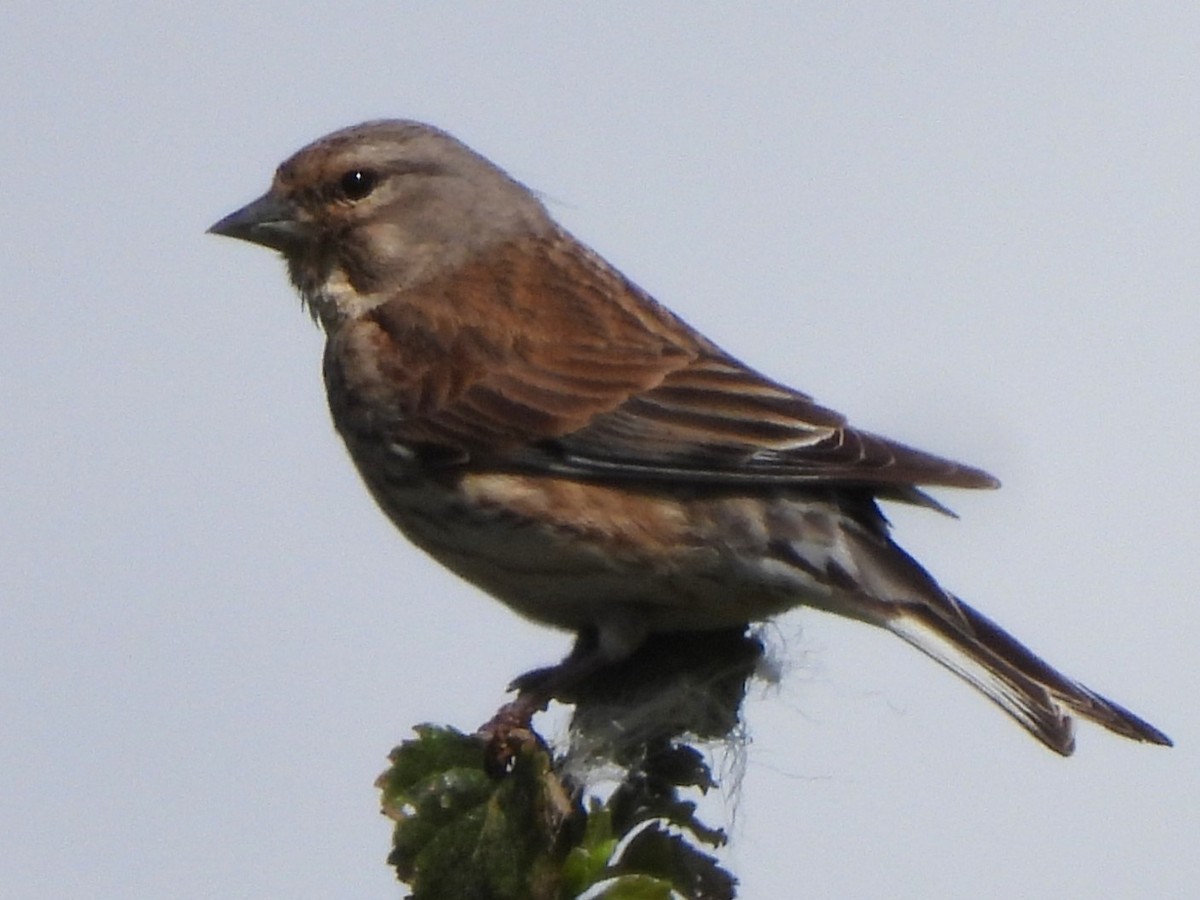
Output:
[[450,445],[480,464],[599,479],[996,485],[848,427],[577,244],[518,247],[474,269],[373,316],[395,347],[386,378],[403,385],[402,439]]

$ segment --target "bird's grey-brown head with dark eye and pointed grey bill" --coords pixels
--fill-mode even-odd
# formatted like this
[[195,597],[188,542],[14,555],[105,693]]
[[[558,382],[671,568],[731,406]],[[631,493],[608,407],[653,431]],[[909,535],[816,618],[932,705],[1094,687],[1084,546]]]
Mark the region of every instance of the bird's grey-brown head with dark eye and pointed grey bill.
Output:
[[328,325],[383,302],[384,286],[402,290],[552,228],[532,191],[450,134],[385,120],[304,148],[209,232],[282,253]]

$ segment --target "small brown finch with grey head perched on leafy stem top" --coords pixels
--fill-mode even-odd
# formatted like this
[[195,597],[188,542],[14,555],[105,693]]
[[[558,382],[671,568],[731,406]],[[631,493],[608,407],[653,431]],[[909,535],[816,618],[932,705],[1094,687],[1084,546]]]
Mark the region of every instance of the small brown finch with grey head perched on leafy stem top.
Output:
[[893,540],[881,502],[948,512],[929,488],[995,478],[739,361],[448,132],[335,131],[209,230],[282,256],[374,500],[449,570],[575,632],[559,676],[810,607],[899,636],[1063,756],[1073,716],[1171,744]]

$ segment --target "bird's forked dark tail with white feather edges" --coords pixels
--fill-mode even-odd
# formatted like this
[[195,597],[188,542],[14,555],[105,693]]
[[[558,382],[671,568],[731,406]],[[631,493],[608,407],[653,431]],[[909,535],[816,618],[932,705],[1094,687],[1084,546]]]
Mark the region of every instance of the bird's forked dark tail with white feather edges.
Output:
[[923,604],[896,604],[881,624],[973,684],[1063,756],[1075,749],[1072,712],[1123,737],[1171,745],[1153,725],[1070,680],[983,613],[961,600],[955,605],[962,616],[952,620]]

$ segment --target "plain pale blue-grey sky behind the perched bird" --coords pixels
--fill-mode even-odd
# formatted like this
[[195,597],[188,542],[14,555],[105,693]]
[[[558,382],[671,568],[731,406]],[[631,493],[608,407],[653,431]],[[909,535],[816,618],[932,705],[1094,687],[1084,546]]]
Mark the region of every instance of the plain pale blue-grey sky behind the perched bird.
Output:
[[392,530],[282,265],[204,234],[409,116],[758,368],[995,472],[900,541],[1178,744],[1061,760],[793,613],[724,802],[743,896],[1193,895],[1200,7],[967,6],[10,5],[0,893],[400,896],[388,750],[566,649]]

